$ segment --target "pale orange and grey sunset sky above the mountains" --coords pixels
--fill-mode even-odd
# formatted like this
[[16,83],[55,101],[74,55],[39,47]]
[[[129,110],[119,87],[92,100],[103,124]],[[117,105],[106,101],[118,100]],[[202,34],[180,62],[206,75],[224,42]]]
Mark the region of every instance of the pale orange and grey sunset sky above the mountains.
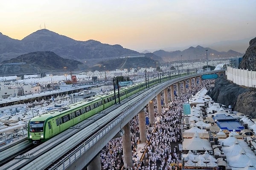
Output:
[[205,47],[256,37],[256,0],[0,1],[2,34],[21,40],[40,28],[139,52]]

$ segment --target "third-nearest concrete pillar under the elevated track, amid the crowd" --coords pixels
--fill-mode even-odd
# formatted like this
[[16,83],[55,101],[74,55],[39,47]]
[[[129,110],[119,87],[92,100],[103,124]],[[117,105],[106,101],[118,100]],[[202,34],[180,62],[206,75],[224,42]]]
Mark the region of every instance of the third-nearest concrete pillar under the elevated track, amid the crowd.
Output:
[[142,109],[139,114],[139,129],[140,129],[140,142],[146,142],[147,136],[146,136],[146,118],[145,118],[145,111]]

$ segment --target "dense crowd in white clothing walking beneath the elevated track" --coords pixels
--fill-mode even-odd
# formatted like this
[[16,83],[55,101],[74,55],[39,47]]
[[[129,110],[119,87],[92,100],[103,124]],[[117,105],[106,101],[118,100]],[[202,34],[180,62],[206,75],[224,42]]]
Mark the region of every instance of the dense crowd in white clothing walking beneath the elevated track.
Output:
[[[182,143],[180,125],[183,103],[202,88],[209,89],[210,85],[214,83],[213,81],[203,80],[197,86],[192,81],[192,89],[187,88],[186,94],[183,93],[183,85],[181,85],[181,94],[180,96],[175,95],[173,102],[168,91],[169,107],[162,106],[161,115],[157,114],[157,102],[154,100],[155,125],[146,126],[147,141],[143,150],[140,150],[143,153],[141,157],[138,156],[137,151],[140,136],[138,116],[130,121],[133,167],[126,168],[126,170],[179,170],[181,168],[179,144]],[[175,91],[177,91],[176,85]],[[161,96],[163,100],[163,94]],[[148,106],[145,106],[144,111],[145,116],[148,116]],[[121,170],[123,166],[122,137],[112,139],[102,149],[100,157],[102,170]]]

